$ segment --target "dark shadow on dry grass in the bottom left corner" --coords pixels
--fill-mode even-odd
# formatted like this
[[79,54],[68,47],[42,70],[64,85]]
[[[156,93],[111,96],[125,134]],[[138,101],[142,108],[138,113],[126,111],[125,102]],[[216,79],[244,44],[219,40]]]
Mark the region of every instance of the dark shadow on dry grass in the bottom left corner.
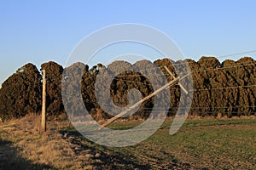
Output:
[[46,164],[38,164],[26,160],[19,155],[18,150],[10,141],[0,139],[0,169],[56,169]]

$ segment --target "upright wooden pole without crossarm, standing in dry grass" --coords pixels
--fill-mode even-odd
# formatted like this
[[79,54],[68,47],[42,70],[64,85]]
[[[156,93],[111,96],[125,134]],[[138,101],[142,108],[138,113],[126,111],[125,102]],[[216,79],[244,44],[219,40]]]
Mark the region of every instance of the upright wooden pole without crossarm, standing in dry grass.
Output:
[[42,96],[42,132],[46,131],[46,116],[45,116],[45,103],[46,103],[46,72],[43,70],[43,96]]

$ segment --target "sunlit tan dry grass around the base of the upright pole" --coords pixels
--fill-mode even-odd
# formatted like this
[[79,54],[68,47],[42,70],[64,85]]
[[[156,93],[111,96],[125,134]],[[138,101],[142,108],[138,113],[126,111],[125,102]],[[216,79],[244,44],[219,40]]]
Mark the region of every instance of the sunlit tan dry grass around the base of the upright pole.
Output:
[[[97,159],[101,154],[82,149],[79,144],[73,144],[73,137],[57,131],[68,125],[67,121],[48,122],[49,131],[41,133],[40,116],[26,116],[2,123],[0,169],[14,169],[20,161],[27,165],[28,161],[32,162],[32,169],[93,169],[96,163],[101,162]],[[14,157],[20,161],[15,161]]]

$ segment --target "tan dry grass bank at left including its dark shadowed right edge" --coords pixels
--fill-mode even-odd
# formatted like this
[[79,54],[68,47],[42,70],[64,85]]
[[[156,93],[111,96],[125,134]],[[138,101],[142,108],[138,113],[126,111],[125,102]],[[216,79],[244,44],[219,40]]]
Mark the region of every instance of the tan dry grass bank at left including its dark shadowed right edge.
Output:
[[[47,122],[40,132],[40,116],[27,115],[0,124],[0,169],[136,169],[145,168],[125,156],[96,150],[69,127],[65,117]],[[21,166],[21,167],[20,167]]]

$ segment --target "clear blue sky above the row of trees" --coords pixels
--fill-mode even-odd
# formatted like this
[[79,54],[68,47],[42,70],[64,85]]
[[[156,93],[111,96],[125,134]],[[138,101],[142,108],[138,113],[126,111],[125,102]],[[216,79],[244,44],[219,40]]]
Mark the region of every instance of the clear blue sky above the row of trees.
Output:
[[[256,1],[0,1],[0,84],[20,66],[65,65],[103,26],[138,23],[166,32],[188,58],[256,49]],[[256,53],[247,54],[255,59]],[[230,59],[238,59],[232,56]],[[100,59],[99,59],[100,62]]]

